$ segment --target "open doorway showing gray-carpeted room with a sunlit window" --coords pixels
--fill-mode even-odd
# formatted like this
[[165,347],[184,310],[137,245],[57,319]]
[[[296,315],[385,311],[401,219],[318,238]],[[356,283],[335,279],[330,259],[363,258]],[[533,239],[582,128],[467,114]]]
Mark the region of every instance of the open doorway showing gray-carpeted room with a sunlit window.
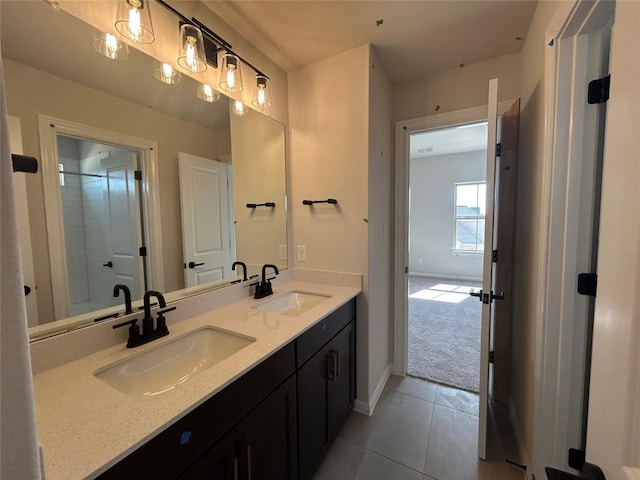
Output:
[[407,373],[479,390],[487,122],[409,139]]

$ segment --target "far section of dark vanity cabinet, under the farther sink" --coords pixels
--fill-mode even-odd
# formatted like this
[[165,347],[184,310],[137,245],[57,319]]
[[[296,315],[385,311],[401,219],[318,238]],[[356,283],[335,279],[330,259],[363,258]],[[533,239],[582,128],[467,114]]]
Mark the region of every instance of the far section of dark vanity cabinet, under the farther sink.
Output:
[[[327,317],[326,327],[303,335],[305,345],[314,344],[312,336],[323,335],[332,328],[330,322],[342,326],[335,336],[298,365],[298,466],[299,478],[310,479],[326,450],[353,408],[356,396],[355,310],[353,303]],[[351,316],[344,325],[344,319]],[[335,331],[335,328],[333,328]],[[303,338],[301,337],[301,339]],[[326,338],[326,337],[325,337]],[[317,345],[317,342],[315,343]],[[297,358],[300,359],[298,346]],[[304,355],[302,358],[306,358]]]

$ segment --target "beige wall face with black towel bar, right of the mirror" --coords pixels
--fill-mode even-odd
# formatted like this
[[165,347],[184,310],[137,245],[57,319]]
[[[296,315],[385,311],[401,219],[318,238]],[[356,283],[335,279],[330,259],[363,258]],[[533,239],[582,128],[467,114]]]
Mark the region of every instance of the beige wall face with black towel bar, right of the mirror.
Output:
[[[289,74],[291,201],[294,256],[306,245],[304,268],[362,273],[357,304],[358,397],[367,400],[369,46]],[[303,206],[335,198],[338,205]]]

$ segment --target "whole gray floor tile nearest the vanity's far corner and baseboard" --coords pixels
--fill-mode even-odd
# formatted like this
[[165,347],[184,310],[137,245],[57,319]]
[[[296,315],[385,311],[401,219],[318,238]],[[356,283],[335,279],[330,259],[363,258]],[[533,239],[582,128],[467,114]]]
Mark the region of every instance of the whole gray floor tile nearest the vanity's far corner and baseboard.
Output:
[[427,455],[433,404],[393,392],[381,405],[366,447],[414,470],[422,471]]

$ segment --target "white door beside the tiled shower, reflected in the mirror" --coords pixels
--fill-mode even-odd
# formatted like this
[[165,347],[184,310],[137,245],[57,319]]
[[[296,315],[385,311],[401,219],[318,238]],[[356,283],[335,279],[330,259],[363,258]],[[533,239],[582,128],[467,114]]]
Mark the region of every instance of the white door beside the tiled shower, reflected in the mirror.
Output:
[[111,295],[113,286],[120,283],[131,290],[131,298],[142,297],[144,279],[140,229],[140,198],[134,172],[137,156],[134,152],[112,155],[100,161],[104,174],[104,195],[108,228],[105,232],[106,256],[98,260],[106,285],[102,288],[109,297],[107,304],[118,303]]

